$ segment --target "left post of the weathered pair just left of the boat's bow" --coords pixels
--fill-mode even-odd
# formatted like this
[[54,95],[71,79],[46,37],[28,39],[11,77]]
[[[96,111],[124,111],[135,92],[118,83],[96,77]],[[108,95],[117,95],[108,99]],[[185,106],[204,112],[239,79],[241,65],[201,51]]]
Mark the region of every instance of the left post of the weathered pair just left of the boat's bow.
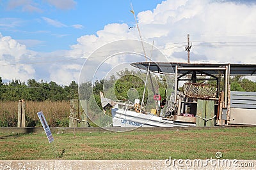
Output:
[[69,118],[69,127],[77,127],[77,120],[74,118],[78,117],[78,108],[79,101],[77,99],[70,100],[70,117]]

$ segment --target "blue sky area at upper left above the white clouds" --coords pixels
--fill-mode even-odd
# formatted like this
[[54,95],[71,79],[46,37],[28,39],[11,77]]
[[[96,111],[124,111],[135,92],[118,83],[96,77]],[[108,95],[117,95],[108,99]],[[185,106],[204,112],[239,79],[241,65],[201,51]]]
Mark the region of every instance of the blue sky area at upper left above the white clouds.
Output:
[[[58,2],[58,1],[56,1]],[[61,1],[59,1],[61,4]],[[28,49],[40,52],[68,50],[84,34],[96,34],[111,23],[134,25],[134,11],[156,8],[154,1],[67,1],[67,6],[47,1],[0,1],[0,32]],[[31,6],[30,8],[26,6]]]

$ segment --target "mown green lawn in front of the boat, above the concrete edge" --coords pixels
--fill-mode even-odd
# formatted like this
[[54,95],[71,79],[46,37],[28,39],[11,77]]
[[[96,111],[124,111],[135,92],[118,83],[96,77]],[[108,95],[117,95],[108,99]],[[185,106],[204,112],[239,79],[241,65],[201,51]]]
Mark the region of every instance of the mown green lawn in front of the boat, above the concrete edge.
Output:
[[[256,127],[191,131],[0,134],[1,159],[256,159]],[[61,151],[65,149],[63,157]],[[57,152],[58,156],[57,157]]]

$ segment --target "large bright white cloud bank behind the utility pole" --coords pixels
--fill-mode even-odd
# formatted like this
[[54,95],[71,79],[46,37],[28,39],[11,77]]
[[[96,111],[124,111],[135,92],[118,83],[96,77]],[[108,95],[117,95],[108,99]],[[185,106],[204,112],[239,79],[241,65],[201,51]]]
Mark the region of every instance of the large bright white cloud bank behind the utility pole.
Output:
[[[168,0],[153,11],[138,13],[138,24],[143,40],[151,43],[154,39],[155,45],[172,60],[179,61],[180,58],[175,58],[180,56],[178,52],[186,58],[184,47],[189,33],[193,43],[191,60],[252,63],[256,62],[255,43],[246,42],[255,42],[255,10],[255,5],[241,3]],[[100,45],[125,38],[139,39],[137,29],[128,29],[126,24],[108,24],[97,35],[81,36],[71,48],[92,53]]]

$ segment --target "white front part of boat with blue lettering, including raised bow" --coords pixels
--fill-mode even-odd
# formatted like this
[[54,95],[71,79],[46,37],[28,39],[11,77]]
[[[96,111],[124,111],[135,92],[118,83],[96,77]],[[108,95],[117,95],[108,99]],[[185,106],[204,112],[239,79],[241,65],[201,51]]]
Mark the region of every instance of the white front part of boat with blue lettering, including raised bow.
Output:
[[[139,101],[135,101],[134,104],[125,104],[120,102],[111,101],[100,94],[102,108],[106,106],[113,106],[111,108],[111,115],[114,127],[188,127],[195,126],[195,117],[186,117],[186,119],[180,119],[177,115],[169,115],[168,117],[157,116],[146,111],[135,110],[135,105]],[[183,117],[183,116],[180,116]],[[190,119],[190,120],[189,120]],[[177,120],[177,121],[175,121]]]

